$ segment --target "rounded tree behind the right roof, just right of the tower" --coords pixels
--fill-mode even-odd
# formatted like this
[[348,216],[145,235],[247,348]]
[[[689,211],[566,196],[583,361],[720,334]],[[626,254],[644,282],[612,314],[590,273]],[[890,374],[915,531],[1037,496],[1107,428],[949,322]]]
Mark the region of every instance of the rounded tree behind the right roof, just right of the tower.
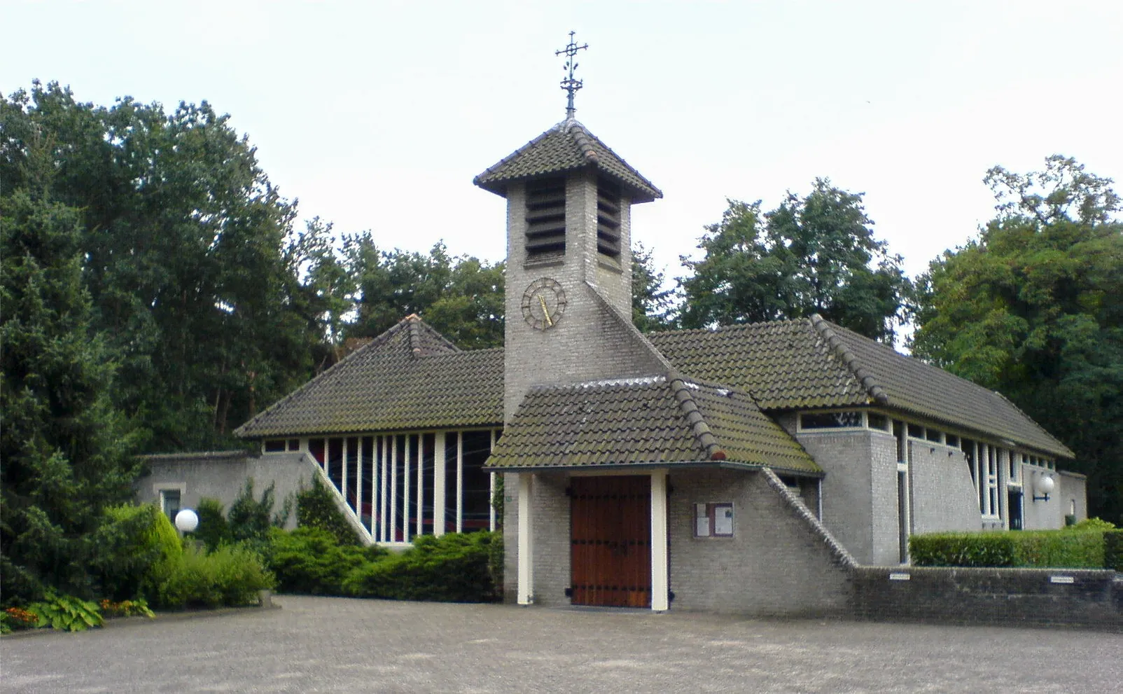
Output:
[[907,316],[911,283],[901,257],[874,237],[862,194],[816,179],[774,210],[730,200],[706,227],[702,259],[683,257],[682,325],[757,322],[820,313],[861,335],[893,341]]

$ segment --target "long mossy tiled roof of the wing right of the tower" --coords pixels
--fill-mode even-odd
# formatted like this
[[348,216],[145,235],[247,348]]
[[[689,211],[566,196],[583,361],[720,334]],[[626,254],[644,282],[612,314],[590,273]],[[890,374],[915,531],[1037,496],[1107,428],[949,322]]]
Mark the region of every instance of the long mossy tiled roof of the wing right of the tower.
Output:
[[647,337],[686,375],[742,389],[766,411],[883,405],[1072,457],[998,393],[818,316]]

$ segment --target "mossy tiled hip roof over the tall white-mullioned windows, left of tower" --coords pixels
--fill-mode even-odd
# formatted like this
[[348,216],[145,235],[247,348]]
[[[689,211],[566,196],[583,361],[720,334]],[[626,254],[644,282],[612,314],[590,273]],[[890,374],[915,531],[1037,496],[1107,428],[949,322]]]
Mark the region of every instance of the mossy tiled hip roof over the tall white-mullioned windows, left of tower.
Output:
[[259,438],[502,421],[503,350],[460,351],[410,316],[235,433]]

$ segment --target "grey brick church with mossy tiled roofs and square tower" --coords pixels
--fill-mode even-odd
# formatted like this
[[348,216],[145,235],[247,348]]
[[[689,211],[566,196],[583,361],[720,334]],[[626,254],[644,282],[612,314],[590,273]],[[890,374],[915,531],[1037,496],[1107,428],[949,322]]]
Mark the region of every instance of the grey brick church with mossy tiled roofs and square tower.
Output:
[[508,206],[502,349],[403,318],[243,424],[259,456],[154,456],[141,499],[319,475],[368,542],[502,527],[512,602],[754,614],[840,610],[912,533],[1086,517],[999,393],[818,316],[637,330],[631,208],[663,193],[572,95],[474,181]]

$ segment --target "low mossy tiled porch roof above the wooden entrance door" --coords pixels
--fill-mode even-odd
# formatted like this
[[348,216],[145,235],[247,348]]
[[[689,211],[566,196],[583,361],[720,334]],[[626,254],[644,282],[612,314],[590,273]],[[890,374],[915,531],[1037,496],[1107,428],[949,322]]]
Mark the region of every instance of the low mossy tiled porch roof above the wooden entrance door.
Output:
[[752,399],[675,374],[532,389],[489,467],[751,465],[819,474]]

